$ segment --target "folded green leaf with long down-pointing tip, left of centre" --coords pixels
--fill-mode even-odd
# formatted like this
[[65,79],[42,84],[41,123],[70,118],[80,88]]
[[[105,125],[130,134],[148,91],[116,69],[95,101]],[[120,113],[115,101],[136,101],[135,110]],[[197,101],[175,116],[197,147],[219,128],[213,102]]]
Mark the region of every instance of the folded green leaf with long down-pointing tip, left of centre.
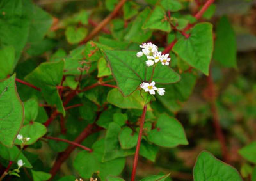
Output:
[[56,105],[60,113],[65,110],[56,86],[61,83],[64,61],[41,63],[25,77],[29,83],[41,89],[45,101],[50,105]]

